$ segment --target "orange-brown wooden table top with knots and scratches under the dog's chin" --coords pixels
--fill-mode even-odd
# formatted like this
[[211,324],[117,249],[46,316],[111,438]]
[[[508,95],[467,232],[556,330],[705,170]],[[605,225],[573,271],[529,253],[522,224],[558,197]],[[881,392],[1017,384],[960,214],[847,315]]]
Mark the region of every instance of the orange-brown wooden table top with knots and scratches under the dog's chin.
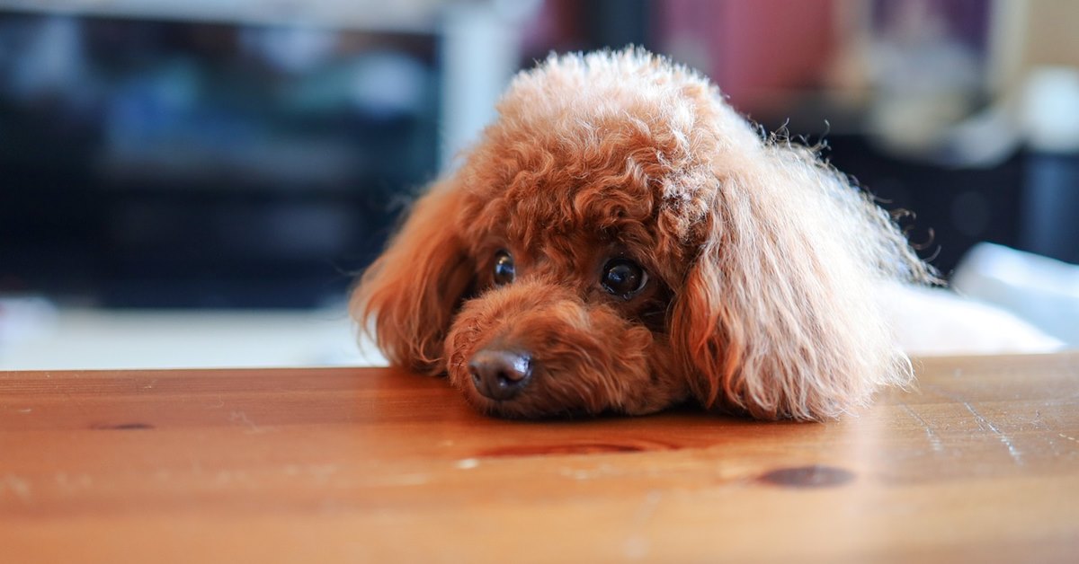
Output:
[[0,562],[1079,562],[1079,354],[829,424],[510,422],[388,369],[0,373]]

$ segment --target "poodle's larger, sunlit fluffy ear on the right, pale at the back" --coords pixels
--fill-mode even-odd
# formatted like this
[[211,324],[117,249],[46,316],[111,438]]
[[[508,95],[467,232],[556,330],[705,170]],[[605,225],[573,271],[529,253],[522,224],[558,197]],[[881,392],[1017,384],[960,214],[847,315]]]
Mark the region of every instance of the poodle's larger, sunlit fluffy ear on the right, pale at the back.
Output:
[[876,291],[927,266],[884,210],[808,150],[762,149],[716,180],[671,341],[706,408],[833,418],[910,381]]

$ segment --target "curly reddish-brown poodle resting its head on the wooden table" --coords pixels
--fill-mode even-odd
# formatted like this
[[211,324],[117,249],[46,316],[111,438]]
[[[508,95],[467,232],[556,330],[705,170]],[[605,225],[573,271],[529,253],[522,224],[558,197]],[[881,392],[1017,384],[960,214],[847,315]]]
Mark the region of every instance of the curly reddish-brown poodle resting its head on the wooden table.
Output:
[[877,291],[929,267],[700,74],[639,50],[551,57],[498,113],[353,295],[393,363],[516,417],[694,399],[823,419],[911,379]]

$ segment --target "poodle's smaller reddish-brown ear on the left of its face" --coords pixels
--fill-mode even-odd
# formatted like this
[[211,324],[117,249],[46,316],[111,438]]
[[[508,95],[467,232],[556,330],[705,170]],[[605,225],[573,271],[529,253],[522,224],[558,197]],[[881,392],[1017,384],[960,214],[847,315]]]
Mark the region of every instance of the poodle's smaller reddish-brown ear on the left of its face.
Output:
[[421,196],[353,292],[353,319],[396,366],[446,370],[442,341],[476,274],[456,226],[463,193],[450,179]]

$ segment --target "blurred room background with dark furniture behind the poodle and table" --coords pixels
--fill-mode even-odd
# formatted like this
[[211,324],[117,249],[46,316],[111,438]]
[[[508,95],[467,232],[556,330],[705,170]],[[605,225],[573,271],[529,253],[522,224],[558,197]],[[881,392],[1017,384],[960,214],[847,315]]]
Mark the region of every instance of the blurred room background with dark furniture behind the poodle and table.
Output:
[[[378,362],[344,302],[514,72],[643,45],[1079,344],[1079,2],[0,1],[0,369]],[[366,356],[365,356],[366,355]]]

